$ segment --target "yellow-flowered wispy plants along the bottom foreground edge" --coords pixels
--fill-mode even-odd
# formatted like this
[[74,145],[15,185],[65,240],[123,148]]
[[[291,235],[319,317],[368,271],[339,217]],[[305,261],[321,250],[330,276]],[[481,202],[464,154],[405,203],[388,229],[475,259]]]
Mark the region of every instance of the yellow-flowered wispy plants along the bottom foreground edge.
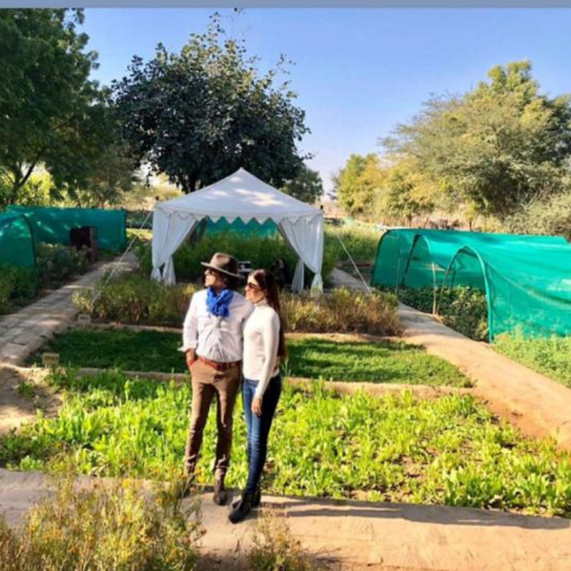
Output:
[[[205,568],[200,504],[198,498],[181,500],[177,477],[149,489],[136,480],[80,487],[64,474],[54,478],[51,492],[31,506],[18,530],[0,515],[2,571]],[[325,569],[303,552],[284,518],[269,510],[258,520],[253,547],[235,559],[252,571]]]

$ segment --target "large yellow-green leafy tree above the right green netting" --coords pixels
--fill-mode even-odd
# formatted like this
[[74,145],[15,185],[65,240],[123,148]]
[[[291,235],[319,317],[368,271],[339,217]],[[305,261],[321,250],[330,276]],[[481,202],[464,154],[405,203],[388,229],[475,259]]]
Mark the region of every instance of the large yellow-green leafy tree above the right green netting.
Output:
[[569,96],[540,93],[528,61],[490,70],[465,96],[433,98],[384,139],[452,201],[500,218],[557,193],[571,154]]

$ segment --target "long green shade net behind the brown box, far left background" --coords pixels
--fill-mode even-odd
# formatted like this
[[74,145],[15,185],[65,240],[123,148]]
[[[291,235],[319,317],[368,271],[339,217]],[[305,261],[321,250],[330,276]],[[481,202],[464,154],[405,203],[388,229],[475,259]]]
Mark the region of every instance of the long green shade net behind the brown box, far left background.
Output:
[[94,226],[100,249],[118,252],[127,244],[127,214],[124,210],[9,206],[8,211],[28,218],[36,242],[69,245],[71,228]]

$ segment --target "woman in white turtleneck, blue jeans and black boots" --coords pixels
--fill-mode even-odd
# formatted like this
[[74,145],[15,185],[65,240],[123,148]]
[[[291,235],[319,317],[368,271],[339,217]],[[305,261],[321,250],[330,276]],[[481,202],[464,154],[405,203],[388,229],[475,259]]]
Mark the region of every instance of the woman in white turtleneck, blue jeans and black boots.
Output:
[[260,505],[260,478],[268,451],[268,435],[281,393],[279,359],[285,357],[285,337],[276,279],[267,270],[248,276],[246,299],[255,308],[244,326],[242,397],[248,430],[248,482],[230,513],[241,522]]

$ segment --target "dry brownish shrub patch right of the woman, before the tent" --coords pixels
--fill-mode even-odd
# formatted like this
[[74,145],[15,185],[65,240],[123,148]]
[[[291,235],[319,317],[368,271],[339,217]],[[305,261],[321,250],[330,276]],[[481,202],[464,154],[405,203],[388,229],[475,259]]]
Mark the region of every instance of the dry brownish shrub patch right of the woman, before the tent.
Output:
[[371,333],[400,335],[397,298],[391,293],[370,295],[348,289],[318,298],[283,295],[286,330],[299,333]]

